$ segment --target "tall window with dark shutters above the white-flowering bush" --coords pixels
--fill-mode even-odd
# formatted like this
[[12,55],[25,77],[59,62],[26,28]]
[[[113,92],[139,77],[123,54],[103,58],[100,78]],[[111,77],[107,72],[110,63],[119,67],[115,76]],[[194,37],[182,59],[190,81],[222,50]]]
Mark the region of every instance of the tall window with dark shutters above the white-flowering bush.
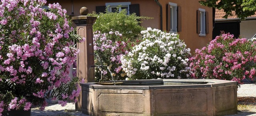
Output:
[[176,3],[169,2],[167,4],[167,30],[171,33],[179,32],[181,29],[181,13],[179,13],[180,7]]

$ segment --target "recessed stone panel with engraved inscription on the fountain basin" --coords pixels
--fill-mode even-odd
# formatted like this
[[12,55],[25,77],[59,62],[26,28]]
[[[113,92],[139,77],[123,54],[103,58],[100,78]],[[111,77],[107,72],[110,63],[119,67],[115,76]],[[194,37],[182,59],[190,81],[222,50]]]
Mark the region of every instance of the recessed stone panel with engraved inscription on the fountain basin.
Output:
[[155,104],[156,112],[165,112],[165,114],[206,112],[207,94],[206,92],[157,93]]

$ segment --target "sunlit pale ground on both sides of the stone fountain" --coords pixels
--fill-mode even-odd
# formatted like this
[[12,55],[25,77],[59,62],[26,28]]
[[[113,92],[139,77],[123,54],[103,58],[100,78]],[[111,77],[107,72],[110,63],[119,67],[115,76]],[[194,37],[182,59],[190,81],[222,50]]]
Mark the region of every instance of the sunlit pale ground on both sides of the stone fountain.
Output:
[[[242,84],[237,91],[238,97],[256,97],[256,84]],[[62,107],[59,104],[48,104],[44,111],[32,108],[31,116],[88,116],[82,112],[75,111],[75,104],[68,103]],[[256,105],[245,111],[238,111],[238,114],[226,116],[256,116]]]

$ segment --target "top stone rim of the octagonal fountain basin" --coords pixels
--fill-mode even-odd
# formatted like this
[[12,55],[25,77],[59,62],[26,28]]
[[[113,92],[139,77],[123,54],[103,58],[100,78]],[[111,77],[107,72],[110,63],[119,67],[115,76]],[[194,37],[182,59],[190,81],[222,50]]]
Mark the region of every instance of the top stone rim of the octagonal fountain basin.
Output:
[[[81,84],[82,87],[92,89],[170,89],[170,88],[214,88],[218,86],[237,85],[236,81],[218,80],[218,79],[153,79],[153,80],[118,80],[108,82],[122,82],[122,83],[146,83],[146,82],[207,82],[206,84],[187,84],[187,85],[161,85],[161,86],[133,86],[133,85],[101,85],[103,82],[90,82]],[[106,82],[105,82],[106,83]]]

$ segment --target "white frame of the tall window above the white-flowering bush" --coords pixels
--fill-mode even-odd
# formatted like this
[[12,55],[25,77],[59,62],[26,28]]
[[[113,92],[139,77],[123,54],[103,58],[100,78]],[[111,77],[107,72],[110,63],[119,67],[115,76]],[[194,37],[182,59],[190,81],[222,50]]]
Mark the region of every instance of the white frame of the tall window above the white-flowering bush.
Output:
[[170,24],[170,33],[177,33],[178,32],[178,20],[177,20],[177,4],[169,2],[170,5],[170,19],[171,19],[171,24]]

